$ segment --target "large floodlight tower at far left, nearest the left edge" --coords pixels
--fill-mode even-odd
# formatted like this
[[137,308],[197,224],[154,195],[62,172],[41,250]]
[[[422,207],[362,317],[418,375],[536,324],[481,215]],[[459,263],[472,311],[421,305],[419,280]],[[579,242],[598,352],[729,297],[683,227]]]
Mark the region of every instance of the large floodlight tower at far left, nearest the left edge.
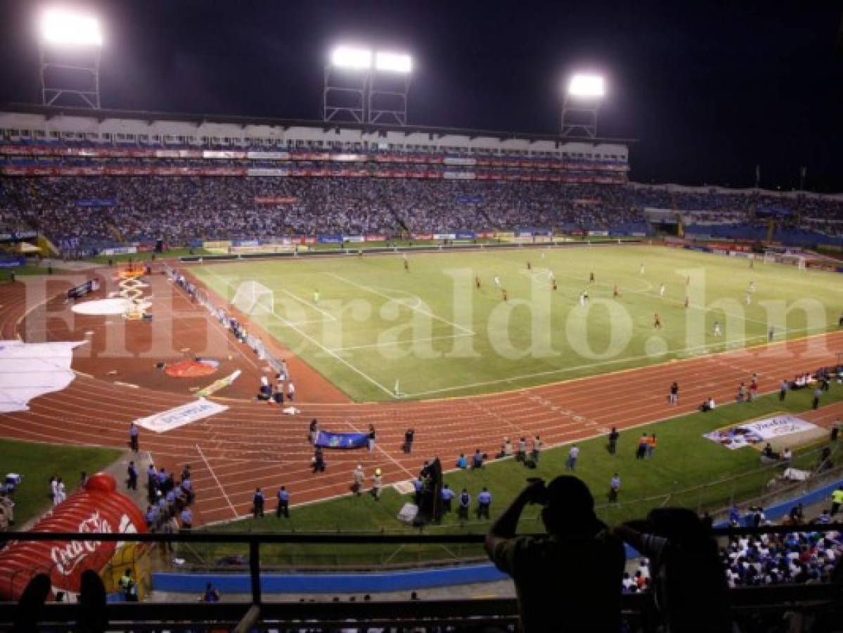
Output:
[[[99,20],[50,9],[40,21],[41,103],[82,105],[99,110]],[[58,103],[62,105],[62,103]]]

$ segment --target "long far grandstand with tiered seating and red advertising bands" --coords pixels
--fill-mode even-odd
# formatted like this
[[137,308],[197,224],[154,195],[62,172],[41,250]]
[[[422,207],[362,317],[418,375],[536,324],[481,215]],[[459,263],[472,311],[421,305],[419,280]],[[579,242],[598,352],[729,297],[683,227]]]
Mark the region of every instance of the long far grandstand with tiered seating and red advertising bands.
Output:
[[[629,183],[631,142],[30,107],[0,113],[0,217],[68,252],[535,230],[840,246],[843,199]],[[164,203],[162,204],[162,201]],[[251,244],[246,244],[251,245]]]

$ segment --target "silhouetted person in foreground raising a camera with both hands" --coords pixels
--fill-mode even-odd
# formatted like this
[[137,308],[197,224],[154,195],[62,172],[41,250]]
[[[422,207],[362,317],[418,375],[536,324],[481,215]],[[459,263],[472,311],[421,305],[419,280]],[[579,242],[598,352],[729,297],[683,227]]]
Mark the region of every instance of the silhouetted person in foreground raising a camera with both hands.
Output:
[[[489,558],[515,582],[522,630],[619,630],[626,563],[620,539],[594,514],[583,480],[528,482],[486,535]],[[542,506],[547,534],[517,536],[518,518],[533,503]],[[582,609],[583,604],[600,609]]]

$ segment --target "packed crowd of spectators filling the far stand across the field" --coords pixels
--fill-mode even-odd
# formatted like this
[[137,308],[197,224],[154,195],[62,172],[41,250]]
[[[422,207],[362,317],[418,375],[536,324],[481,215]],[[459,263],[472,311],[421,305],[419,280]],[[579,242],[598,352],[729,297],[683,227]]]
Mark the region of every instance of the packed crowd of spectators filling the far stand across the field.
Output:
[[[223,161],[224,162],[224,161]],[[166,159],[159,164],[166,163]],[[216,163],[215,163],[216,164]],[[406,166],[412,169],[412,166]],[[402,167],[403,169],[403,167]],[[263,199],[263,200],[261,200]],[[102,201],[83,206],[80,201]],[[453,233],[561,228],[643,231],[643,210],[685,212],[689,225],[749,226],[777,210],[805,228],[843,232],[843,200],[674,191],[535,180],[351,177],[19,176],[0,180],[0,232],[37,229],[64,249],[164,239]],[[765,223],[763,218],[755,223]]]

